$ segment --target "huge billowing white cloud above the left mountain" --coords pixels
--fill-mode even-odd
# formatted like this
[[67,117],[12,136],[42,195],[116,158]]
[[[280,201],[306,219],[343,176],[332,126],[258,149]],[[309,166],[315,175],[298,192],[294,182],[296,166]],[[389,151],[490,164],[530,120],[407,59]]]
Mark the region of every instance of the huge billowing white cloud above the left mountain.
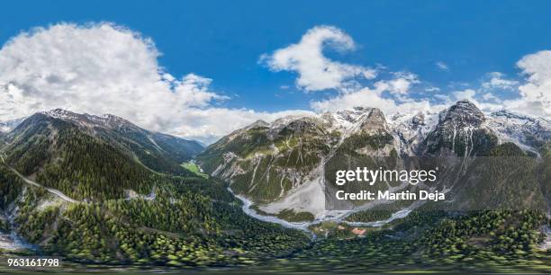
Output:
[[205,142],[258,119],[306,111],[215,107],[212,80],[175,77],[152,40],[112,23],[61,23],[23,32],[0,49],[0,120],[64,108],[112,113],[146,128]]

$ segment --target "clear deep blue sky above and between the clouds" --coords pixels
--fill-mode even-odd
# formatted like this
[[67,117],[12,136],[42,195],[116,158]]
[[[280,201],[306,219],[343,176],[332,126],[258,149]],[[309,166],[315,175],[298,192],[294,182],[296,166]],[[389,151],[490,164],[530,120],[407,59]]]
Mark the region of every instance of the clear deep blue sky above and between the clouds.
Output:
[[312,101],[341,93],[306,93],[299,72],[259,62],[315,26],[338,28],[356,45],[324,48],[325,57],[384,67],[381,75],[410,72],[419,79],[413,91],[478,89],[492,72],[521,82],[519,59],[551,49],[549,1],[17,1],[3,11],[1,43],[37,26],[113,22],[153,40],[171,75],[212,79],[209,89],[230,98],[216,106],[268,112],[312,110]]

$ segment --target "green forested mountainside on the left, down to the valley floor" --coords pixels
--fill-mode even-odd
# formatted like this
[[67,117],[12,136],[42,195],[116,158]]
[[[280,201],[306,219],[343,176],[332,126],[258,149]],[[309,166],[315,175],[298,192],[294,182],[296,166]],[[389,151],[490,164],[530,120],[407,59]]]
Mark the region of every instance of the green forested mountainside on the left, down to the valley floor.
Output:
[[189,143],[81,122],[39,113],[5,138],[3,232],[69,261],[113,264],[252,263],[310,242],[248,217],[224,183],[185,170],[177,162],[189,159]]

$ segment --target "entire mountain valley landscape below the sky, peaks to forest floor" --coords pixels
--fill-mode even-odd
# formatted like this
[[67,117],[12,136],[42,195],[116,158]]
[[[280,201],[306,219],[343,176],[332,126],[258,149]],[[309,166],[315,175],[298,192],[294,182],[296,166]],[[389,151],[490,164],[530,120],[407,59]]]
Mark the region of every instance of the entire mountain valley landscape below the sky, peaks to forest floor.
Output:
[[[206,148],[113,115],[44,111],[0,122],[0,156],[3,258],[95,269],[551,272],[551,121],[468,101],[259,120]],[[446,200],[327,196],[337,171],[435,165],[434,183],[347,186]]]

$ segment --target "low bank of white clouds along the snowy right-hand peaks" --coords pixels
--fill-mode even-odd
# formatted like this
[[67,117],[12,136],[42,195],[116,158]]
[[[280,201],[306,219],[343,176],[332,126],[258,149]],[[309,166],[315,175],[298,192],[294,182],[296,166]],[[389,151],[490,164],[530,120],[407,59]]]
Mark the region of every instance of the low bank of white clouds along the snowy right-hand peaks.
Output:
[[[316,28],[312,30],[316,30]],[[307,35],[308,33],[304,37]],[[348,44],[353,45],[351,39]],[[348,44],[345,43],[345,45]],[[294,49],[298,47],[296,45],[284,50]],[[437,62],[436,66],[441,70],[449,70],[447,64],[443,62]],[[311,102],[311,108],[314,111],[337,111],[354,106],[371,106],[393,113],[440,108],[443,105],[466,99],[474,102],[483,111],[507,109],[531,116],[549,118],[551,114],[551,51],[544,50],[530,54],[521,58],[517,66],[521,69],[522,75],[526,77],[524,81],[510,79],[500,72],[491,72],[483,76],[483,81],[479,85],[451,83],[443,94],[432,94],[430,101],[411,94],[411,87],[420,84],[417,75],[391,73],[394,75],[392,79],[378,80],[372,86],[352,85],[348,89],[339,89],[339,94],[332,98]],[[296,70],[300,74],[301,70]],[[378,74],[382,74],[382,72],[379,71]],[[299,76],[303,77],[302,74]],[[297,80],[297,82],[300,81],[301,78]],[[333,86],[339,85],[342,84]],[[425,91],[441,92],[438,87],[425,88]],[[516,98],[515,92],[518,93]],[[513,98],[511,99],[511,97]]]

